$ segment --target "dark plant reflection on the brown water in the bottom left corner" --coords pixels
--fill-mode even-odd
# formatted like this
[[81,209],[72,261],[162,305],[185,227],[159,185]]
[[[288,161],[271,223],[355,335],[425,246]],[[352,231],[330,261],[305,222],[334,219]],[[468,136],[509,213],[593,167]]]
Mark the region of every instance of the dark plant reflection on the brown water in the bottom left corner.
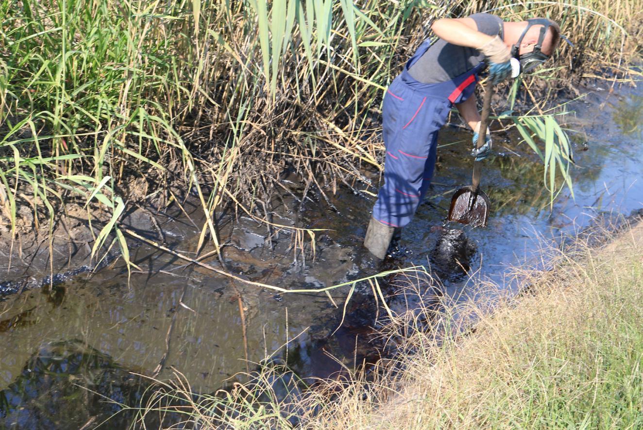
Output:
[[[80,341],[44,345],[23,371],[0,391],[0,427],[12,429],[93,429],[110,418],[109,428],[127,428],[149,382],[126,372]],[[73,411],[73,413],[70,413]],[[112,417],[115,413],[118,415]],[[152,415],[146,424],[159,428]],[[167,417],[177,422],[178,417]]]

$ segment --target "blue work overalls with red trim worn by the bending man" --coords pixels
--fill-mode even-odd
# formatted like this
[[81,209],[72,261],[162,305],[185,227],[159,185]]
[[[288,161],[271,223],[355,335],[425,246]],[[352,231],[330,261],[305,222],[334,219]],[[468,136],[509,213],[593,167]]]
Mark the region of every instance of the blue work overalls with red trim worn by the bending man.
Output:
[[438,131],[451,106],[473,94],[484,67],[480,63],[446,82],[417,82],[408,69],[429,47],[430,41],[425,40],[384,96],[384,185],[377,194],[373,218],[391,227],[404,227],[413,218],[431,184]]

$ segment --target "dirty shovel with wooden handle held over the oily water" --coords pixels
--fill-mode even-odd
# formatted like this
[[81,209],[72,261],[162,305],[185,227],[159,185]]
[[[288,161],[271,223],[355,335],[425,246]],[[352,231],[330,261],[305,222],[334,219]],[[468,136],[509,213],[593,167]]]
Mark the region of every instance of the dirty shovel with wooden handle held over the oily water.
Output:
[[[489,108],[491,107],[491,95],[493,94],[493,82],[487,78],[484,101],[482,103],[482,121],[480,121],[480,132],[478,133],[477,148],[484,145],[487,137],[487,125],[489,125]],[[480,173],[482,173],[482,161],[473,162],[473,181],[471,186],[461,187],[451,198],[449,207],[449,221],[469,224],[472,227],[487,227],[489,218],[489,197],[480,189]]]

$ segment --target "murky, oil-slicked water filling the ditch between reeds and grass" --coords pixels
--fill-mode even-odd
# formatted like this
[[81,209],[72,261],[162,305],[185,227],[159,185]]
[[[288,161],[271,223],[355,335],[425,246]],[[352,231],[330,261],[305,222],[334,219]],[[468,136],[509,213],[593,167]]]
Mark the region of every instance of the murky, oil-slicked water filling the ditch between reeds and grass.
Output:
[[[564,191],[550,211],[541,165],[516,146],[516,135],[500,135],[495,139],[500,155],[485,162],[482,176],[493,204],[489,227],[445,229],[451,195],[469,182],[472,168],[466,155],[470,134],[447,128],[435,184],[387,264],[432,264],[445,279],[445,292],[455,296],[471,288],[457,271],[445,270],[455,260],[440,261],[441,247],[455,239],[466,244],[458,261],[469,273],[500,281],[507,266],[536,255],[543,239],[572,234],[606,212],[627,215],[643,207],[643,89],[617,90],[620,95],[593,90],[574,103],[576,117],[569,121],[579,130],[573,139],[575,199]],[[464,142],[450,144],[458,141]],[[332,228],[318,234],[314,261],[293,252],[289,234],[267,232],[240,217],[221,226],[223,236],[231,237],[224,248],[228,268],[287,288],[320,288],[363,276],[364,268],[372,269],[361,261],[359,248],[373,198],[350,191],[329,197],[334,209],[320,199],[307,202],[296,216],[275,217],[287,225]],[[289,196],[276,202],[280,213],[299,207]],[[199,230],[187,219],[164,221],[168,245],[195,252]],[[266,243],[268,235],[272,240]],[[0,427],[93,428],[120,409],[117,402],[143,399],[149,381],[138,374],[167,379],[174,368],[195,391],[211,392],[243,380],[239,372],[266,358],[285,359],[303,376],[325,377],[339,368],[327,353],[349,366],[377,354],[377,345],[359,341],[368,334],[374,310],[358,299],[344,327],[331,334],[340,311],[325,295],[276,295],[237,282],[244,336],[230,280],[185,268],[148,246],[133,252],[143,272],[132,273],[129,284],[117,262],[91,277],[80,274],[53,289],[32,289],[0,302]],[[347,291],[332,292],[340,307]],[[133,417],[120,413],[108,427],[121,428]]]

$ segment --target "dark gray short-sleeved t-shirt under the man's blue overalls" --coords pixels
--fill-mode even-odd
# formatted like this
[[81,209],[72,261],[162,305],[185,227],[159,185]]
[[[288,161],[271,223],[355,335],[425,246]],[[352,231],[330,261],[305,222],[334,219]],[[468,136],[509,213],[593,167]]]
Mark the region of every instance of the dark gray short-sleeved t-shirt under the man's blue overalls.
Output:
[[[469,16],[480,33],[503,37],[502,19],[489,13]],[[408,70],[416,81],[422,83],[445,82],[476,67],[484,55],[473,47],[458,46],[438,39]]]

